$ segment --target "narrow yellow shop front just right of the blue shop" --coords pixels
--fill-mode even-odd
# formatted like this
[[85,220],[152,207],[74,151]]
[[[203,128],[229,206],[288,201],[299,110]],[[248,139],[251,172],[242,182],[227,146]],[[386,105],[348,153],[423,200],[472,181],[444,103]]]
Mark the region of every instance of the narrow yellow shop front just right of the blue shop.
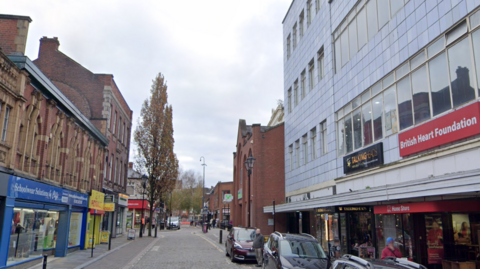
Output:
[[87,248],[95,248],[100,244],[100,236],[105,215],[105,194],[92,190],[88,201],[87,227],[85,245]]

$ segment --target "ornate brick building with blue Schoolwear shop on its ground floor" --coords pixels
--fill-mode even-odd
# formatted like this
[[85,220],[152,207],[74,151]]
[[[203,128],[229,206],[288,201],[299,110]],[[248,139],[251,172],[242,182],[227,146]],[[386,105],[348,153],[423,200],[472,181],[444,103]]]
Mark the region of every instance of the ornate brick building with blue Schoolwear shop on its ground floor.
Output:
[[24,56],[30,22],[0,15],[0,268],[86,247],[109,145]]

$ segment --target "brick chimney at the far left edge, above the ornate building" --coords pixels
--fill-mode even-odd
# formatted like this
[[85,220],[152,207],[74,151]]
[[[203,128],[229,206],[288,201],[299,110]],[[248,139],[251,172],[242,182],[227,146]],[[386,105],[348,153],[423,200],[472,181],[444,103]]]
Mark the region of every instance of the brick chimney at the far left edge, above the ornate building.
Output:
[[0,14],[0,48],[6,55],[24,55],[27,46],[28,16]]

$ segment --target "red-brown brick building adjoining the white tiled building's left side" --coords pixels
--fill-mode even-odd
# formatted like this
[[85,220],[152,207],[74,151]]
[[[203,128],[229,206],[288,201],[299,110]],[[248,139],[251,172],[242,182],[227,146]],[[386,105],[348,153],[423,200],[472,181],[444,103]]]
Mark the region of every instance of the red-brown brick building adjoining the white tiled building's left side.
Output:
[[[234,226],[258,227],[264,234],[273,232],[273,216],[263,213],[263,207],[272,205],[274,200],[277,204],[283,203],[285,199],[283,127],[283,123],[266,127],[247,125],[245,120],[239,122],[233,154],[234,200],[231,207]],[[250,193],[245,168],[249,156],[256,159],[250,177]],[[285,215],[275,216],[275,229],[286,232]]]

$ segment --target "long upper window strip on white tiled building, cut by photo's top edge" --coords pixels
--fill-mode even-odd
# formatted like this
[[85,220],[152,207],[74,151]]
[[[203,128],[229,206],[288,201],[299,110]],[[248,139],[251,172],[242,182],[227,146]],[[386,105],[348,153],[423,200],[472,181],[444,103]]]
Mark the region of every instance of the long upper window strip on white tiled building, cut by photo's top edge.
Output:
[[333,33],[335,70],[340,70],[408,0],[359,1]]

